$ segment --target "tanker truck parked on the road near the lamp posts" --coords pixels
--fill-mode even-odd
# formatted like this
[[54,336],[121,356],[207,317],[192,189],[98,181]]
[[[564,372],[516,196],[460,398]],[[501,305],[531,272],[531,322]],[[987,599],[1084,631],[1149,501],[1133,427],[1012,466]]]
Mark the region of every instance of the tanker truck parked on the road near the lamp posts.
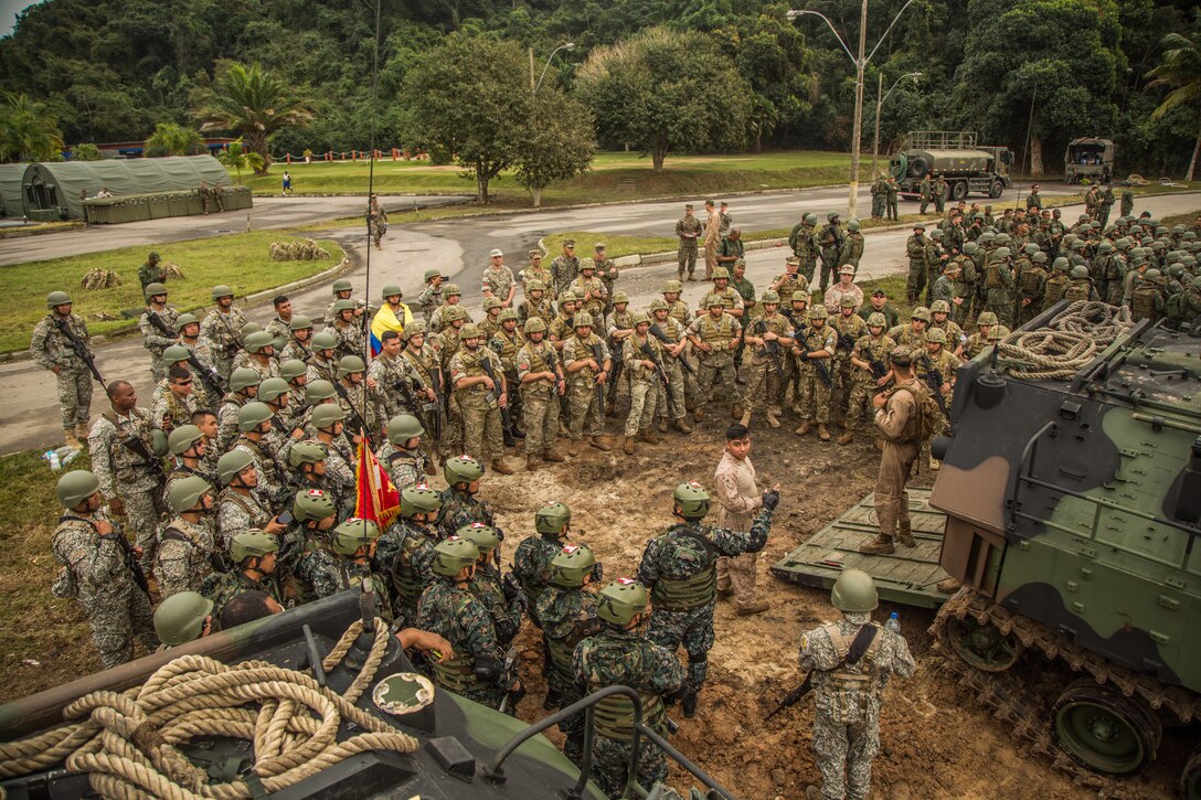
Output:
[[993,199],[1010,185],[1009,167],[1014,154],[1006,147],[978,145],[969,131],[910,131],[904,147],[889,162],[901,196],[919,197],[921,179],[942,175],[949,199],[958,202],[969,193]]

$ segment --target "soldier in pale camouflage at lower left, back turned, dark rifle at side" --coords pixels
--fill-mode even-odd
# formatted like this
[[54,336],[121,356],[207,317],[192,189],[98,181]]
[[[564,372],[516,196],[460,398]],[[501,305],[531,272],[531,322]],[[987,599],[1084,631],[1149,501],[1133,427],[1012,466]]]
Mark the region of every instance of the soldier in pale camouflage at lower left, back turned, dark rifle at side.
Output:
[[56,492],[65,513],[52,547],[61,569],[55,597],[74,597],[91,625],[91,640],[104,669],[133,658],[133,639],[147,652],[159,647],[151,625],[150,598],[126,563],[124,533],[101,511],[100,480],[86,470],[59,478]]

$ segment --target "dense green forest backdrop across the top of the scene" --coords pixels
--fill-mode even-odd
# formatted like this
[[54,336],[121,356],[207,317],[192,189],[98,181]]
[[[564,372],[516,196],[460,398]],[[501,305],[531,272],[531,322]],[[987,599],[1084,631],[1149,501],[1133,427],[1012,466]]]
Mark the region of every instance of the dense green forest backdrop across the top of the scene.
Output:
[[[715,147],[847,149],[855,71],[818,17],[788,20],[788,6],[757,0],[381,0],[378,144],[402,145],[402,88],[448,34],[532,48],[548,82],[592,101],[600,147],[620,148],[614,103],[578,91],[590,54],[664,25],[694,31],[734,72],[711,71],[695,92],[715,115],[737,115]],[[871,4],[867,48],[904,0]],[[814,4],[852,49],[860,4]],[[1197,139],[1201,103],[1153,119],[1169,88],[1148,86],[1165,34],[1196,42],[1194,2],[1153,0],[913,0],[880,43],[865,80],[864,147],[871,151],[878,76],[920,71],[891,94],[882,150],[910,129],[978,130],[1020,159],[1057,171],[1082,135],[1118,143],[1121,169],[1183,173]],[[370,141],[375,8],[371,0],[46,0],[0,40],[0,89],[43,101],[64,141],[141,141],[159,123],[196,126],[199,97],[226,61],[258,64],[311,101],[304,125],[270,138],[273,154],[363,149]],[[734,74],[736,72],[736,74]],[[727,77],[722,77],[727,76]],[[737,94],[737,97],[733,95]],[[1033,95],[1033,103],[1032,101]],[[471,103],[470,94],[461,98]],[[620,108],[620,105],[616,106]],[[552,113],[552,112],[551,112]],[[1033,118],[1032,118],[1033,113]],[[585,118],[586,120],[586,118]],[[1027,124],[1033,144],[1027,154]],[[729,127],[729,126],[727,126]]]

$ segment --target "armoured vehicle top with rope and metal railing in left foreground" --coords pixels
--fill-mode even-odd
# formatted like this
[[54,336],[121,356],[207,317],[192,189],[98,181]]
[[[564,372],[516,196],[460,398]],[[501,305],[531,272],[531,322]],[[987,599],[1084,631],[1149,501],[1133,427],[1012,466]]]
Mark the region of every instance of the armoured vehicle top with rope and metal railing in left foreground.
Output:
[[436,689],[354,591],[0,706],[0,795],[603,800],[540,733],[586,710],[590,752],[613,695],[635,723],[631,775],[650,739],[706,784],[694,800],[733,800],[641,723],[632,689],[526,726]]

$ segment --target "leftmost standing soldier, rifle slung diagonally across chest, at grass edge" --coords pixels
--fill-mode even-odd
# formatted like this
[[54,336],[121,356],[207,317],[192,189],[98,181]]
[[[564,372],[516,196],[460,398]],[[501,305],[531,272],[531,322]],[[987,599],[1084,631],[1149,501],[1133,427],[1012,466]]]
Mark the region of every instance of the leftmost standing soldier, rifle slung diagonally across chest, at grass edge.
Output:
[[78,437],[88,436],[88,420],[91,412],[91,371],[83,359],[71,348],[71,341],[59,329],[61,323],[71,336],[94,357],[88,326],[77,314],[71,312],[71,295],[66,292],[50,292],[46,297],[46,308],[50,310],[34,327],[29,342],[29,354],[34,360],[52,372],[58,382],[59,408],[62,411],[62,437],[67,444],[83,449]]

